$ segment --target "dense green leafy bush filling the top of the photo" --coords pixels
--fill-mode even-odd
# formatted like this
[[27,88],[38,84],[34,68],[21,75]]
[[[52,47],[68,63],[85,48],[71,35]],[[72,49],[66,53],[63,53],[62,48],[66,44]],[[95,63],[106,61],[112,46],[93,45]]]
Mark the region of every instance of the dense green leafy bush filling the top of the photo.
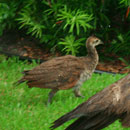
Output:
[[[125,44],[113,43],[113,39],[118,34],[126,39],[124,33],[129,30],[129,24],[126,24],[130,20],[129,8],[129,0],[3,0],[0,2],[0,34],[8,28],[23,28],[49,48],[57,47],[73,55],[80,53],[79,41],[82,38],[95,34],[105,42],[110,41],[112,48],[120,46],[116,52],[124,52],[129,39]],[[67,44],[61,46],[61,38]],[[69,38],[72,42],[68,42]],[[70,49],[74,44],[74,50]]]

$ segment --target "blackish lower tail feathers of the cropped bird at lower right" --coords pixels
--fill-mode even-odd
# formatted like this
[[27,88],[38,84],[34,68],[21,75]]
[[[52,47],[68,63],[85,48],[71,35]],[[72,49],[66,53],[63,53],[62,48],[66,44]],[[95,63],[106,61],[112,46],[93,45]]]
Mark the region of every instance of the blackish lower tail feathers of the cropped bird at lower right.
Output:
[[78,120],[69,125],[65,130],[100,130],[117,119],[116,116],[98,113],[94,117],[80,117]]

